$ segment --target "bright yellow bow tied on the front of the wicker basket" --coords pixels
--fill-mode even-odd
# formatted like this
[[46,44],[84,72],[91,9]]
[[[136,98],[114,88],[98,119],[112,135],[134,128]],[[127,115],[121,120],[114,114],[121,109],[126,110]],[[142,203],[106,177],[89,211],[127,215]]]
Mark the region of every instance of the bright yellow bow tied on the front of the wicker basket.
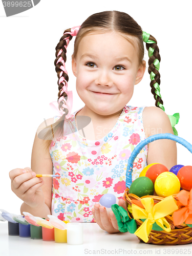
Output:
[[[153,223],[157,223],[165,231],[170,232],[170,225],[164,218],[178,209],[173,196],[166,197],[154,206],[153,198],[142,198],[141,203],[145,209],[132,204],[133,217],[137,219],[146,219],[143,224],[135,231],[137,237],[141,238],[145,243],[148,241],[148,235],[152,230]],[[164,227],[164,225],[166,227]]]

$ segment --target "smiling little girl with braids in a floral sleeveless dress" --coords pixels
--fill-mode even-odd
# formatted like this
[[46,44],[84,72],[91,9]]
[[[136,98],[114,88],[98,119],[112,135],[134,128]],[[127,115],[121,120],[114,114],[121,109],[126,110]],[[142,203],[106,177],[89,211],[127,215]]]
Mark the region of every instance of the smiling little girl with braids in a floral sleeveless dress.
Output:
[[[83,108],[70,113],[66,49],[76,36],[72,70]],[[126,105],[145,72],[144,46],[150,56],[152,93],[156,107]],[[91,15],[81,26],[65,30],[56,46],[58,109],[36,133],[31,168],[10,172],[12,190],[24,201],[21,213],[60,220],[94,222],[118,232],[113,212],[98,204],[112,193],[124,206],[127,161],[137,144],[158,133],[172,133],[160,95],[159,48],[156,39],[142,31],[128,14],[105,11]],[[69,97],[70,96],[70,97]],[[67,100],[67,102],[66,102]],[[45,125],[46,123],[46,125]],[[133,180],[155,162],[167,168],[176,163],[176,142],[158,140],[145,146],[133,165]],[[37,178],[36,174],[60,175]]]

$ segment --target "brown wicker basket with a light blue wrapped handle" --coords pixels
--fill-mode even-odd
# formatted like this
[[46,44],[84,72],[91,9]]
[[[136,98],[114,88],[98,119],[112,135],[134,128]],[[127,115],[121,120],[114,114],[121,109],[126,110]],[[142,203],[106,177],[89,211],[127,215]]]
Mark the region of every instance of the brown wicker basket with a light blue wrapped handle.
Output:
[[[144,141],[140,142],[135,150],[132,152],[132,155],[129,159],[129,162],[127,164],[127,172],[126,172],[126,190],[124,193],[124,199],[126,201],[126,206],[132,205],[132,200],[141,201],[142,198],[153,198],[154,203],[158,203],[161,200],[163,200],[163,197],[159,196],[144,196],[139,198],[138,196],[134,194],[129,194],[129,187],[132,183],[131,177],[132,177],[132,170],[133,170],[133,162],[139,152],[142,150],[142,148],[147,145],[150,142],[153,142],[158,139],[170,139],[174,140],[183,146],[185,146],[191,153],[192,153],[192,145],[188,143],[186,140],[175,136],[173,134],[158,134],[153,135],[151,137],[148,137]],[[173,195],[174,199],[176,199],[176,195]],[[177,199],[176,199],[177,200]],[[181,208],[182,206],[179,206],[178,208]],[[131,212],[128,211],[128,215],[131,219],[133,219],[133,215]],[[153,230],[150,232],[148,236],[148,242],[147,244],[156,244],[156,245],[178,245],[178,244],[189,244],[192,243],[192,227],[187,226],[186,224],[181,224],[180,226],[175,226],[173,222],[173,218],[170,215],[167,215],[165,219],[170,224],[170,228],[172,230],[170,232],[167,231],[156,231]],[[141,220],[136,220],[137,228],[141,226],[143,223]],[[144,242],[142,239],[138,238],[140,241]]]

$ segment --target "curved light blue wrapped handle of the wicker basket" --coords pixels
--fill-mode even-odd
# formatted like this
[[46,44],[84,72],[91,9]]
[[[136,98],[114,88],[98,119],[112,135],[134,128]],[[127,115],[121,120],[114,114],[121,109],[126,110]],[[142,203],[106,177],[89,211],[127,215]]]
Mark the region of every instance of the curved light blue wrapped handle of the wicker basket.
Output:
[[171,133],[162,133],[162,134],[155,134],[152,135],[148,138],[146,138],[145,140],[141,141],[134,149],[134,151],[132,152],[128,164],[127,164],[127,168],[126,168],[126,187],[131,186],[132,184],[132,172],[133,172],[133,162],[136,159],[137,155],[139,154],[139,152],[142,150],[142,148],[144,146],[146,146],[148,143],[151,143],[155,140],[161,140],[161,139],[168,139],[168,140],[174,140],[178,143],[180,143],[181,145],[185,146],[187,148],[188,151],[190,151],[190,153],[192,153],[192,145],[187,142],[186,140],[173,135]]

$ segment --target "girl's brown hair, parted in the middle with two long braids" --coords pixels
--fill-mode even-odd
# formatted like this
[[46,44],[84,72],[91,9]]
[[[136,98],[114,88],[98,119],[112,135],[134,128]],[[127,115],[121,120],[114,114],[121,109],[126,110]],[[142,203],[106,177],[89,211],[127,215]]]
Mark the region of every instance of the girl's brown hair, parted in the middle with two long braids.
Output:
[[[143,56],[144,56],[144,46],[143,46],[143,38],[142,38],[142,29],[141,27],[137,24],[137,22],[129,15],[126,14],[124,12],[119,12],[119,11],[104,11],[104,12],[100,12],[100,13],[95,13],[93,15],[91,15],[90,17],[88,17],[80,26],[80,29],[77,33],[77,36],[75,38],[75,42],[74,42],[74,52],[72,57],[75,58],[77,51],[78,51],[78,46],[79,46],[79,42],[82,39],[82,37],[86,36],[87,34],[91,34],[91,33],[104,33],[104,32],[109,32],[109,31],[116,31],[121,33],[122,36],[124,36],[127,40],[129,40],[131,42],[131,44],[133,44],[133,41],[130,40],[129,37],[127,37],[127,35],[131,35],[133,37],[136,38],[137,40],[137,46],[138,47],[138,58],[139,58],[139,63],[142,63],[143,61]],[[67,29],[64,31],[64,33],[66,32],[71,32],[71,29]],[[61,62],[57,63],[57,60],[59,59],[60,56],[62,56],[63,60],[66,62],[67,57],[66,57],[66,48],[67,47],[67,41],[66,39],[69,38],[69,40],[72,39],[72,35],[70,34],[65,34],[60,38],[60,41],[58,43],[58,45],[56,46],[55,50],[56,50],[56,59],[55,59],[55,70],[57,72],[57,77],[58,77],[58,100],[61,96],[65,97],[65,99],[67,100],[68,95],[64,92],[62,95],[60,95],[60,92],[62,90],[63,87],[63,83],[61,82],[59,84],[59,75],[61,73],[61,69],[60,67],[62,66]],[[154,40],[157,44],[156,39],[153,36],[150,36],[151,40]],[[152,83],[152,93],[154,94],[154,98],[156,99],[156,106],[157,102],[160,100],[161,104],[162,100],[159,96],[156,96],[156,90],[153,87],[153,84],[155,83],[156,79],[158,84],[160,84],[160,74],[158,72],[158,70],[154,71],[154,58],[158,58],[160,61],[160,55],[159,55],[159,48],[157,47],[156,44],[147,44],[146,43],[146,47],[148,45],[149,47],[153,47],[155,48],[154,51],[154,56],[152,55],[149,59],[149,65],[150,67],[148,68],[148,72],[151,74],[151,72],[153,71],[156,76],[155,79],[151,82]],[[154,45],[156,45],[154,47]],[[62,49],[62,53],[58,56],[59,51]],[[147,49],[148,50],[148,49]],[[62,68],[62,67],[61,67]],[[68,82],[69,77],[67,75],[67,73],[62,72],[62,76],[65,78],[65,80]],[[57,101],[58,101],[57,100]],[[63,104],[63,101],[61,101],[59,103],[59,108],[61,108],[61,105]],[[66,112],[66,114],[63,114],[58,121],[56,121],[55,123],[53,123],[52,125],[48,126],[50,129],[48,130],[48,132],[46,133],[44,139],[45,139],[45,144],[46,144],[46,149],[48,150],[51,141],[54,137],[54,135],[57,135],[58,137],[61,137],[63,135],[63,131],[64,131],[64,121],[65,121],[65,116],[68,114],[68,109],[64,108],[63,111]],[[68,124],[70,125],[71,121],[67,120]],[[48,128],[47,127],[47,128]],[[54,135],[53,135],[54,134]]]

